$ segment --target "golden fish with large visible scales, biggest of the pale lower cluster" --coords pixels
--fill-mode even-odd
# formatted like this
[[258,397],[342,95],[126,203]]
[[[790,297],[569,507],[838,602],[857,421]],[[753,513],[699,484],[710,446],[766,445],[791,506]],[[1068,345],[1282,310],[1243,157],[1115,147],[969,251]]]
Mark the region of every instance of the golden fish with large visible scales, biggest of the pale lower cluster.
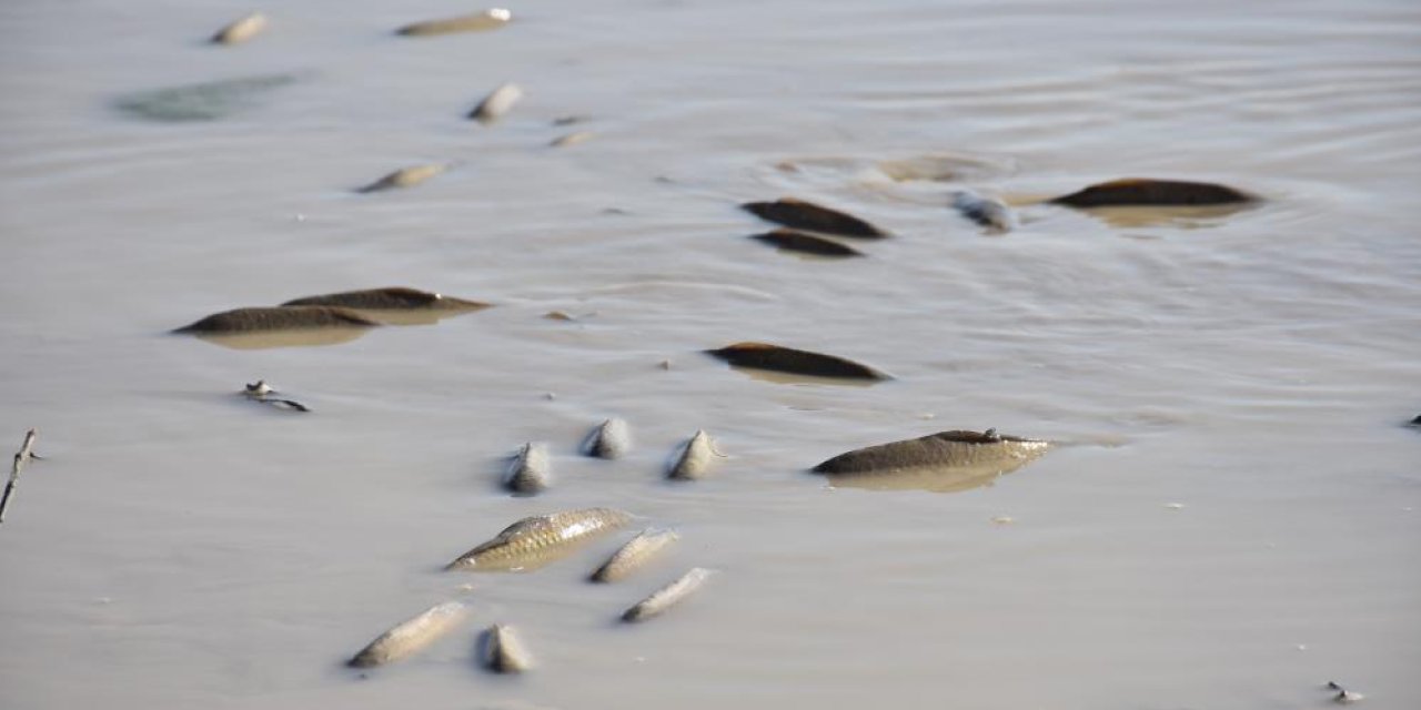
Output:
[[631,523],[631,514],[614,508],[567,510],[527,517],[459,555],[445,569],[531,569],[627,523]]

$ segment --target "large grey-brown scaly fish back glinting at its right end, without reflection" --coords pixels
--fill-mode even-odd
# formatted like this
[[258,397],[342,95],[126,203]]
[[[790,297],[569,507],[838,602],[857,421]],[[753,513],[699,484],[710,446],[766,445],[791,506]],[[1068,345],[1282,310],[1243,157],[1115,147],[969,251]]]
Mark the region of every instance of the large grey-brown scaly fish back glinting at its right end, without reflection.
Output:
[[828,459],[814,473],[853,474],[905,469],[1012,466],[1030,462],[1050,449],[1050,442],[986,432],[938,432],[919,439],[857,449]]

